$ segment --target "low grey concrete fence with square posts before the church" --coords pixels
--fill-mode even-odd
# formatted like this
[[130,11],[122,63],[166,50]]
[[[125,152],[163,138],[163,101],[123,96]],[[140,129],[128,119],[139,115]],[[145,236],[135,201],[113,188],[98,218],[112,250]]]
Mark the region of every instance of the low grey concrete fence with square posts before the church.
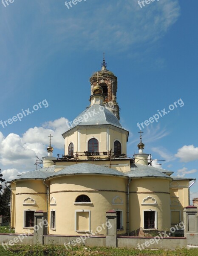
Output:
[[[106,236],[62,236],[47,235],[47,214],[46,212],[35,212],[34,234],[0,234],[0,244],[6,248],[6,244],[60,244],[70,247],[70,241],[74,245],[82,241],[85,246],[98,247],[127,247],[142,249],[176,249],[198,246],[198,209],[196,207],[184,208],[184,237],[134,237],[117,236],[117,214],[115,211],[106,212],[106,221],[110,223],[106,227]],[[37,228],[39,227],[39,229]],[[75,243],[76,241],[76,243]]]

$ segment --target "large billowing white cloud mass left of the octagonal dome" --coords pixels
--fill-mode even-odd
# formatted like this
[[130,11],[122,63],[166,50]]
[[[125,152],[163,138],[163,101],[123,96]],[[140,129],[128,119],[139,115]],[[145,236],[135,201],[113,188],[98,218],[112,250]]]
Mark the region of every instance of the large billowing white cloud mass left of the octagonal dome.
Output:
[[68,130],[66,122],[68,120],[61,117],[44,123],[42,127],[29,128],[21,137],[14,133],[4,137],[0,132],[0,167],[3,178],[12,180],[19,173],[35,169],[35,155],[39,158],[47,155],[49,134],[53,136],[53,147],[63,150],[62,133]]

